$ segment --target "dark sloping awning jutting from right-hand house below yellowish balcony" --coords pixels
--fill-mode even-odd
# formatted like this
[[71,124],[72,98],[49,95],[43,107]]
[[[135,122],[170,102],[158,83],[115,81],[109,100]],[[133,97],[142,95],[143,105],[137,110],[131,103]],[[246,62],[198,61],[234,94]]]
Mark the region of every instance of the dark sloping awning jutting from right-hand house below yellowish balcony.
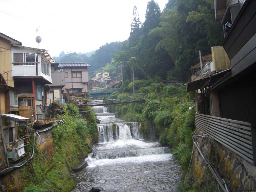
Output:
[[211,82],[211,85],[217,82],[220,78],[222,78],[226,73],[231,71],[231,69],[227,69],[225,71],[221,71],[219,73],[215,73],[213,75],[210,75],[209,77],[205,77],[202,79],[199,79],[197,81],[191,81],[186,83],[186,91],[195,91],[197,89],[201,89],[204,84],[206,84],[209,80]]

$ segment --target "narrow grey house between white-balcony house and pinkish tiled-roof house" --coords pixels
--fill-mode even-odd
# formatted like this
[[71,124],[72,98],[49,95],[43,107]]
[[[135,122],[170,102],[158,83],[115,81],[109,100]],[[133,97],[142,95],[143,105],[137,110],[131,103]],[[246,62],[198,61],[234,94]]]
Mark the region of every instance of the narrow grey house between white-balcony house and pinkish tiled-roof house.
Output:
[[52,84],[48,85],[48,90],[46,92],[46,103],[51,105],[53,101],[58,101],[58,103],[63,103],[62,88],[66,85],[65,83],[65,72],[62,69],[58,69],[59,63],[51,63],[51,75]]

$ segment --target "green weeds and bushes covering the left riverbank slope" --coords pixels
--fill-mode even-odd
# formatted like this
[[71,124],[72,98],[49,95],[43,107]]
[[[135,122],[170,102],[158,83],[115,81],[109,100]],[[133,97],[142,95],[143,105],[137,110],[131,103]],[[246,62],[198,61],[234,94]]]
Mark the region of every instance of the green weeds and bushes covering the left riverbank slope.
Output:
[[90,152],[87,142],[97,139],[97,125],[94,112],[79,119],[77,106],[67,104],[65,110],[65,116],[61,118],[67,123],[64,126],[58,124],[51,130],[53,140],[46,137],[43,145],[35,147],[33,164],[39,184],[33,183],[31,165],[27,163],[20,169],[25,192],[71,191],[75,187],[70,170]]

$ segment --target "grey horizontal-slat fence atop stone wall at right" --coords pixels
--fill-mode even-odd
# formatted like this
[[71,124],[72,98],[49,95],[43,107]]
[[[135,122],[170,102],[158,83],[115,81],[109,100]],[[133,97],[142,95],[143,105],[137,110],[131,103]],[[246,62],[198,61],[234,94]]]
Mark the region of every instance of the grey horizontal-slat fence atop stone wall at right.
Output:
[[196,127],[254,164],[251,123],[195,114]]

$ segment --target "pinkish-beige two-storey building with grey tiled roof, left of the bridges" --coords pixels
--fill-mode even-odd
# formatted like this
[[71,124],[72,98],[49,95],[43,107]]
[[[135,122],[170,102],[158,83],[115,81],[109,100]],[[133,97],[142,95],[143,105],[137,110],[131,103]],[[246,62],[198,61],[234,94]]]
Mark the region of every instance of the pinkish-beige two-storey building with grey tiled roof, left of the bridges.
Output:
[[88,67],[87,63],[59,63],[57,69],[65,72],[65,86],[66,89],[71,89],[71,93],[88,92]]

